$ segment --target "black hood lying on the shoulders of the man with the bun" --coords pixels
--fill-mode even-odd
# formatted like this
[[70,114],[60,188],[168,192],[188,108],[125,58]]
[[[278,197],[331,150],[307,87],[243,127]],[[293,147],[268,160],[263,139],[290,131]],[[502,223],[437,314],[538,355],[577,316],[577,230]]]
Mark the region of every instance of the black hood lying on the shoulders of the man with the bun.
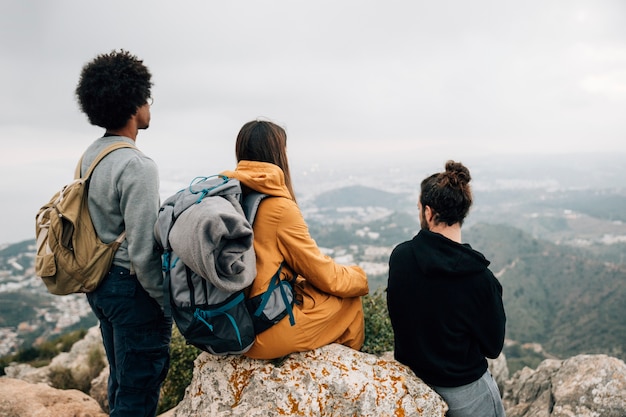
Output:
[[468,244],[454,242],[439,233],[421,230],[411,241],[422,271],[435,276],[467,276],[483,272],[489,261]]

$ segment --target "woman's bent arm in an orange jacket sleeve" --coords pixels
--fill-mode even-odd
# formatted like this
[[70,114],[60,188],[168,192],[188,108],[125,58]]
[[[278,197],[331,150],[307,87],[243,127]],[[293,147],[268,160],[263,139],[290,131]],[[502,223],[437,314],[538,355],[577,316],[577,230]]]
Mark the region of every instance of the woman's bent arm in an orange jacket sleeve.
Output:
[[367,276],[356,265],[339,265],[321,253],[295,202],[285,199],[278,226],[278,247],[298,275],[318,289],[338,297],[356,297],[369,292]]

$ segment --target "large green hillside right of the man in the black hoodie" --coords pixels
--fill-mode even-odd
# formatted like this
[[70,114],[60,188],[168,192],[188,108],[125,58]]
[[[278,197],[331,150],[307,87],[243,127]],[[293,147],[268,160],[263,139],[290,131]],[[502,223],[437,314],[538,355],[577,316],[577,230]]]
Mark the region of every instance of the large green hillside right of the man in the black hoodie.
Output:
[[607,353],[625,358],[623,265],[505,225],[477,224],[463,237],[492,261],[499,276],[508,338],[541,343],[561,357]]

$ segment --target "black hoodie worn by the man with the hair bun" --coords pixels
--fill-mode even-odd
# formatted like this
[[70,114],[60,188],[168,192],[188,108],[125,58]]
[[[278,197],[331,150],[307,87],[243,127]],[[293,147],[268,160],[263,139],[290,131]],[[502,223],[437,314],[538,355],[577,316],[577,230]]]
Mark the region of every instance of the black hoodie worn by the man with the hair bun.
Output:
[[420,231],[389,258],[387,306],[395,358],[424,382],[479,379],[504,344],[502,286],[468,244]]

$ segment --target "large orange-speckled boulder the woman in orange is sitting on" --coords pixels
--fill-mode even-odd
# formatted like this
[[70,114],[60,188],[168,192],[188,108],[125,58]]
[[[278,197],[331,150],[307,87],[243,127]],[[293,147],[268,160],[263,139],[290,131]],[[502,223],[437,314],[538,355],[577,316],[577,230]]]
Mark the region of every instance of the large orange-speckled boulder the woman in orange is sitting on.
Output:
[[202,353],[174,417],[443,417],[447,408],[404,365],[332,344],[282,361]]

